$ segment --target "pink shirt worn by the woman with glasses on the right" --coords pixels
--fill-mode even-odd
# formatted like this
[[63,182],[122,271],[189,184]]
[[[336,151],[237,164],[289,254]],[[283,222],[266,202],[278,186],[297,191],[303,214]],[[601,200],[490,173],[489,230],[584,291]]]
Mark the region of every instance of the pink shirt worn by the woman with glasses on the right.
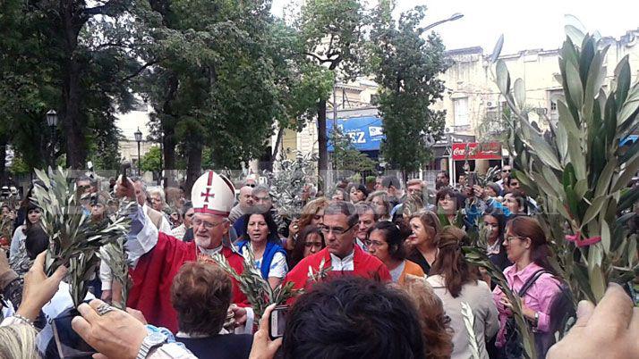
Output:
[[[504,275],[508,282],[508,286],[513,292],[518,292],[519,289],[524,287],[526,280],[531,278],[535,271],[540,271],[540,265],[535,263],[528,264],[522,271],[517,271],[516,264],[507,267],[504,270]],[[537,323],[536,331],[545,332],[550,327],[550,305],[552,300],[561,291],[560,283],[556,280],[552,274],[543,273],[535,280],[533,286],[528,289],[524,294],[524,305],[529,307],[535,312],[539,313],[539,321]],[[497,309],[499,312],[499,332],[497,334],[496,346],[502,347],[506,344],[506,321],[510,314],[504,305],[499,303],[499,300],[506,295],[501,291],[499,286],[495,287],[492,291],[492,297],[495,300]]]

